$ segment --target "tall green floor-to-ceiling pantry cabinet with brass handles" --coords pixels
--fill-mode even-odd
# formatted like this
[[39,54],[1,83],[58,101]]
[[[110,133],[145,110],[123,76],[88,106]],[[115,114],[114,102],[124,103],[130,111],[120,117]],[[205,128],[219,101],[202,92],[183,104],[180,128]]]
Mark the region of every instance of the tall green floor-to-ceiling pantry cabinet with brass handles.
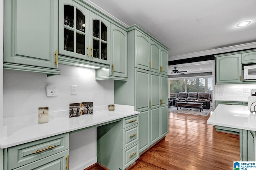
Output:
[[[158,52],[151,55],[152,51]],[[168,48],[138,26],[128,28],[129,78],[114,81],[114,102],[133,105],[136,111],[140,111],[140,153],[168,133],[168,75],[162,72],[168,66],[166,64],[166,68],[161,69],[158,63],[158,70],[157,67],[150,70],[150,65],[151,68],[153,65],[150,57],[159,60],[161,54],[167,59]]]

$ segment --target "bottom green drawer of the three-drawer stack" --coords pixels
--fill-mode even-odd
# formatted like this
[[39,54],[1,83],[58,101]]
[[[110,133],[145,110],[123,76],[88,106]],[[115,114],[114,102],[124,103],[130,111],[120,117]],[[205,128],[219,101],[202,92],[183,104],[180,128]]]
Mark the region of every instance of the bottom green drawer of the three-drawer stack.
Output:
[[128,166],[130,166],[130,164],[135,162],[139,157],[140,157],[139,142],[136,142],[123,150],[123,163],[124,163],[123,168],[125,169]]

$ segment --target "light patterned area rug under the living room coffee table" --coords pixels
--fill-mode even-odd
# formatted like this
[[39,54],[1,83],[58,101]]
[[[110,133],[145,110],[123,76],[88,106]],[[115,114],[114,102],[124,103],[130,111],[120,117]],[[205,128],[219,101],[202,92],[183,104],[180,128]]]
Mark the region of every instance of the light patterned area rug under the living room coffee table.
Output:
[[172,113],[183,113],[183,114],[189,114],[189,115],[199,115],[199,116],[208,116],[208,114],[211,112],[211,109],[203,109],[202,112],[199,111],[199,109],[190,109],[190,108],[182,108],[177,110],[177,107],[171,106],[169,107],[169,112]]

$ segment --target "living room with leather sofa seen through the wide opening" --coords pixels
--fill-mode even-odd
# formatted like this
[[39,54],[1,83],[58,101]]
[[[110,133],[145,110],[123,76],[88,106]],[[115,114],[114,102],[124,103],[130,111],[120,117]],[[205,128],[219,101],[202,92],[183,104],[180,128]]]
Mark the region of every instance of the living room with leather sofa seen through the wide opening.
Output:
[[169,65],[169,112],[207,116],[212,111],[213,62]]

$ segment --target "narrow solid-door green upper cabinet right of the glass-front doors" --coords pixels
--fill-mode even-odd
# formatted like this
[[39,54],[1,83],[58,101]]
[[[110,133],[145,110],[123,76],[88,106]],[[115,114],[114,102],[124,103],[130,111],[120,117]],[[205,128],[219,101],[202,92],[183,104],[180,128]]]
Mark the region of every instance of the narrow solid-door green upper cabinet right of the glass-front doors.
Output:
[[110,69],[96,69],[96,80],[127,80],[127,32],[110,24]]

